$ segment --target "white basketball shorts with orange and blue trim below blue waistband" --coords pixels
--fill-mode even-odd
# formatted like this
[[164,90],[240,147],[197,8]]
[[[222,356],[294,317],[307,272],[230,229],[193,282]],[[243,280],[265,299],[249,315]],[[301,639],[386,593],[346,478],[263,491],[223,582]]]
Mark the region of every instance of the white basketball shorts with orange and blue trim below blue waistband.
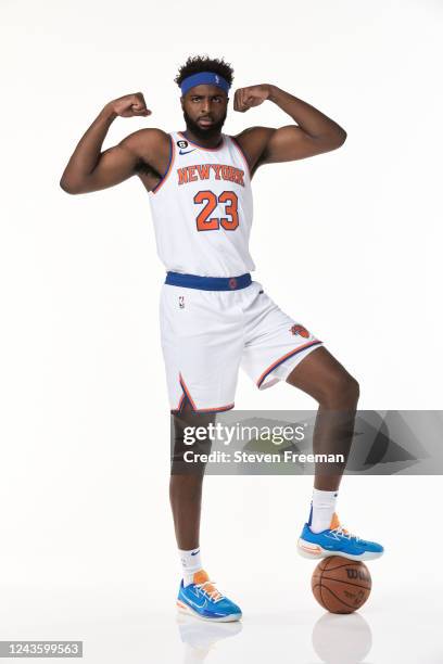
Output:
[[164,283],[160,323],[172,412],[235,406],[239,367],[260,390],[283,381],[322,342],[252,281],[232,291]]

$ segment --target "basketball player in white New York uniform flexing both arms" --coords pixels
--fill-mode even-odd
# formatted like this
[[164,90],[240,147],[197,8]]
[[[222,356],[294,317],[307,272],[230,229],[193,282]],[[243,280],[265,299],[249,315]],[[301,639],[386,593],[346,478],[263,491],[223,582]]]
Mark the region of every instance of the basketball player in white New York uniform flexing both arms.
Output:
[[[347,460],[358,384],[322,342],[283,314],[251,280],[248,244],[251,180],[266,164],[292,162],[336,150],[346,133],[308,103],[264,84],[240,88],[233,110],[277,104],[291,123],[278,129],[250,127],[236,137],[221,131],[233,72],[207,56],[189,58],[175,79],[186,130],[140,129],[102,151],[116,117],[147,117],[143,94],[105,104],[76,146],[61,179],[72,194],[98,191],[137,175],[149,193],[157,251],[167,274],[161,294],[162,347],[170,409],[204,418],[233,408],[241,366],[263,390],[286,381],[318,403],[315,454]],[[270,219],[278,232],[278,219]],[[383,548],[352,535],[336,513],[345,462],[317,472],[311,513],[299,551],[312,559],[343,556],[369,560]],[[241,611],[203,570],[200,508],[203,473],[172,474],[170,502],[182,564],[177,603],[205,620],[237,621]]]

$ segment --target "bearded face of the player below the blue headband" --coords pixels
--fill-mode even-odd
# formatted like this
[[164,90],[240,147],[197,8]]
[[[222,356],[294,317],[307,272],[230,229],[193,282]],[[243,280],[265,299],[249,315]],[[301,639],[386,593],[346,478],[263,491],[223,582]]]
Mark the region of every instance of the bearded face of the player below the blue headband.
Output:
[[216,86],[195,86],[181,98],[186,126],[199,138],[218,136],[225,124],[228,95]]

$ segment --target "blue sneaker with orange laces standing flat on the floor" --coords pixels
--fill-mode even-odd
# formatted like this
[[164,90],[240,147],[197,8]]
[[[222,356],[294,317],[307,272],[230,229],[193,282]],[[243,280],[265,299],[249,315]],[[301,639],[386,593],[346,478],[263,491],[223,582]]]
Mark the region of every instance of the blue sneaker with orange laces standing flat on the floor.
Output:
[[200,570],[193,583],[183,586],[181,580],[177,598],[178,610],[204,621],[230,623],[241,618],[241,610],[215,588],[206,572]]

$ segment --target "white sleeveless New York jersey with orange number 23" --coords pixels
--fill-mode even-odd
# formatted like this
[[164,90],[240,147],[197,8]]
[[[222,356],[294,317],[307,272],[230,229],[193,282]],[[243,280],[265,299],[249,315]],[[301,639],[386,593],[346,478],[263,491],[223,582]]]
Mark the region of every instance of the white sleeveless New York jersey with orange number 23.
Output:
[[218,148],[170,135],[168,168],[149,192],[157,253],[166,270],[238,277],[255,269],[249,253],[253,204],[248,162],[223,133]]

